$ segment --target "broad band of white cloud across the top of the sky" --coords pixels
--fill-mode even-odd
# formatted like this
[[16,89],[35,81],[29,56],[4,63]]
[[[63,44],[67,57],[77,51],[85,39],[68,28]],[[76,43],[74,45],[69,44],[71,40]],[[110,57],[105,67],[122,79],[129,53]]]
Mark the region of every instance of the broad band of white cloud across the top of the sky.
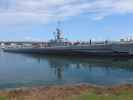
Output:
[[0,0],[0,25],[47,23],[87,14],[101,20],[133,13],[133,0]]

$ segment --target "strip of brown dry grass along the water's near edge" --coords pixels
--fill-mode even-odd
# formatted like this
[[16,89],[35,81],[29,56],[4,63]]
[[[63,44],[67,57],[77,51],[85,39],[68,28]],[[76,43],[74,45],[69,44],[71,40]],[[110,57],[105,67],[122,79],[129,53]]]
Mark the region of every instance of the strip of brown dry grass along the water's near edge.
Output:
[[122,91],[133,93],[132,84],[116,85],[111,87],[80,84],[80,85],[55,85],[22,87],[14,89],[0,90],[0,96],[16,100],[68,100],[67,97],[78,96],[86,92],[93,92],[100,95],[118,95]]

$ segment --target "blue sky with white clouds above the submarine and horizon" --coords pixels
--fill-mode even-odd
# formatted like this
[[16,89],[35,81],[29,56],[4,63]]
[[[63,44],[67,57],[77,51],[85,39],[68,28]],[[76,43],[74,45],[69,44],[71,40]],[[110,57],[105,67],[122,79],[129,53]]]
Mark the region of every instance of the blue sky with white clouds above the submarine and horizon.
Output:
[[60,21],[71,41],[133,37],[133,0],[0,0],[0,41],[47,41]]

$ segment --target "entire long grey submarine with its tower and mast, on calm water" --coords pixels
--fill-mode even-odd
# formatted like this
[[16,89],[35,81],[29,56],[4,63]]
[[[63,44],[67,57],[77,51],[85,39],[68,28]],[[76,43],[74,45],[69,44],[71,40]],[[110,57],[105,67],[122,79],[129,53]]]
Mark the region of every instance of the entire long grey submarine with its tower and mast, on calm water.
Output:
[[133,42],[108,42],[72,43],[63,37],[59,28],[54,32],[55,38],[45,43],[45,46],[7,47],[4,52],[56,54],[56,55],[85,55],[85,56],[109,56],[109,57],[133,57]]

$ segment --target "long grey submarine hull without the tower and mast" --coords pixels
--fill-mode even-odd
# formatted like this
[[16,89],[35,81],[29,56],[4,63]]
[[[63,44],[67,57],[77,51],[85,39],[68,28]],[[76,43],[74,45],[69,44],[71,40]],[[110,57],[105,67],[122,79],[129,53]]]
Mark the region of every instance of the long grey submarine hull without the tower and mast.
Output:
[[5,52],[34,53],[34,54],[56,54],[56,55],[84,55],[84,56],[133,56],[132,46],[119,45],[102,46],[72,46],[72,47],[46,47],[46,48],[5,48]]

